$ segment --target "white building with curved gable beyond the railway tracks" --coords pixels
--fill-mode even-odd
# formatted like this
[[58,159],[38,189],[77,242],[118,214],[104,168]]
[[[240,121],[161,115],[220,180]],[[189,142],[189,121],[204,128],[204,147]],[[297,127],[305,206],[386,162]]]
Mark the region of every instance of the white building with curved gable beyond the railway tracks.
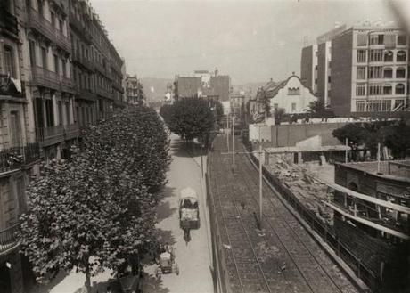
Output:
[[318,99],[295,75],[264,90],[270,99],[270,110],[273,115],[275,109],[279,108],[283,108],[286,114],[304,113],[308,110],[309,103]]

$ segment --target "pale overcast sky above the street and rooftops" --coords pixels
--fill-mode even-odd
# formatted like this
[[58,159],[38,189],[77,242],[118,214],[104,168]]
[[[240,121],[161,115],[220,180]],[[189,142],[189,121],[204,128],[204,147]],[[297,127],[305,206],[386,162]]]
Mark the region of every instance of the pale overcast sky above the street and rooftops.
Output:
[[395,20],[378,0],[91,2],[127,73],[174,78],[217,68],[234,85],[299,74],[304,37],[315,40],[335,21]]

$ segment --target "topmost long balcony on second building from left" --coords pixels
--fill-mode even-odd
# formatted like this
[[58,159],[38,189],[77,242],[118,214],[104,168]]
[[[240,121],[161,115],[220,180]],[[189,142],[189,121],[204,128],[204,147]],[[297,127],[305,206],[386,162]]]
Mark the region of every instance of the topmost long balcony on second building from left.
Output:
[[45,18],[38,14],[33,8],[29,11],[28,25],[30,28],[37,30],[40,34],[60,46],[64,51],[70,52],[70,40],[62,34],[61,30],[54,28],[50,21],[45,20]]

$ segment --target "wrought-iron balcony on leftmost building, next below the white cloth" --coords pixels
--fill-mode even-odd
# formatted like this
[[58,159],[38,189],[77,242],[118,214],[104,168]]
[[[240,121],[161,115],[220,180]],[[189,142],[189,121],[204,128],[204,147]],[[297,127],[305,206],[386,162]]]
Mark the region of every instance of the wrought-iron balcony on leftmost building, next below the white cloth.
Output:
[[7,174],[40,159],[38,143],[27,143],[0,151],[0,175]]

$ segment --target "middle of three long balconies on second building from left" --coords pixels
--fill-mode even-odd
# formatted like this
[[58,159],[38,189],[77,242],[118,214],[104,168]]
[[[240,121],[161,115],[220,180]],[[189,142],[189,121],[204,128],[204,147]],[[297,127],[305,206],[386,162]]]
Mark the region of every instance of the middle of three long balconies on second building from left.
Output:
[[74,93],[74,85],[70,78],[62,77],[53,71],[41,67],[32,67],[31,74],[32,84],[53,88],[56,91]]

